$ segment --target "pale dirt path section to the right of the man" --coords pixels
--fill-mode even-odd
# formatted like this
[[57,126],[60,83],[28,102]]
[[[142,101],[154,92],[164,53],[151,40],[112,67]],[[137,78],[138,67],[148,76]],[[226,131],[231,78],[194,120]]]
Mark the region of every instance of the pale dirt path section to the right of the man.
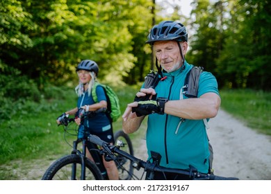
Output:
[[258,134],[220,110],[209,122],[215,174],[239,179],[271,179],[271,137]]

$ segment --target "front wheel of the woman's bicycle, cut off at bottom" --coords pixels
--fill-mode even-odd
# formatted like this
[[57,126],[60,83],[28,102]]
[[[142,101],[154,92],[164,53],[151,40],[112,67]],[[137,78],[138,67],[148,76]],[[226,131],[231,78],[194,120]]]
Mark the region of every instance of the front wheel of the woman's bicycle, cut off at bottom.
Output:
[[[76,165],[76,179],[81,179],[81,157],[79,155],[67,155],[54,161],[45,171],[42,180],[70,180],[72,179],[72,164]],[[85,161],[85,179],[102,180],[104,179],[97,166],[86,159]]]

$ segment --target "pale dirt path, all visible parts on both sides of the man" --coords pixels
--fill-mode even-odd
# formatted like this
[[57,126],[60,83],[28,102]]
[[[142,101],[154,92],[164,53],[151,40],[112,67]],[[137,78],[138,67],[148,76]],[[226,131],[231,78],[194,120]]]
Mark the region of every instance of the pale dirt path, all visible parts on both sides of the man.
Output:
[[[271,137],[258,134],[226,112],[219,114],[209,122],[209,139],[214,150],[213,167],[216,175],[238,177],[239,179],[263,180],[271,179]],[[145,147],[145,129],[136,132],[133,139],[135,156],[147,159]],[[41,179],[52,159],[34,161],[14,161],[12,166],[0,166],[0,170],[10,173],[10,179]],[[140,178],[142,171],[136,171]]]

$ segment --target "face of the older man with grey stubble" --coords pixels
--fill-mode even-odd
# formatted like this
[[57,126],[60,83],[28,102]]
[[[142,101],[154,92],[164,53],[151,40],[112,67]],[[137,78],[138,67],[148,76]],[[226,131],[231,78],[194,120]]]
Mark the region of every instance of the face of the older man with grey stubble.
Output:
[[[181,47],[183,47],[183,43],[181,43]],[[154,51],[158,62],[167,73],[176,71],[183,64],[183,59],[181,58],[179,46],[176,41],[154,42]],[[183,54],[185,54],[184,52]]]

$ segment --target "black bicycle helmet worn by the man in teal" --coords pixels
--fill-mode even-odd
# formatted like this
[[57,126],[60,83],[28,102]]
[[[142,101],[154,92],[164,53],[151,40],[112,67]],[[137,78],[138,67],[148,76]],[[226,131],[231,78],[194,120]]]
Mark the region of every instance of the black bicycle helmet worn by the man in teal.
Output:
[[161,21],[158,25],[151,28],[146,43],[154,44],[156,41],[176,40],[187,42],[188,34],[186,27],[176,21]]

